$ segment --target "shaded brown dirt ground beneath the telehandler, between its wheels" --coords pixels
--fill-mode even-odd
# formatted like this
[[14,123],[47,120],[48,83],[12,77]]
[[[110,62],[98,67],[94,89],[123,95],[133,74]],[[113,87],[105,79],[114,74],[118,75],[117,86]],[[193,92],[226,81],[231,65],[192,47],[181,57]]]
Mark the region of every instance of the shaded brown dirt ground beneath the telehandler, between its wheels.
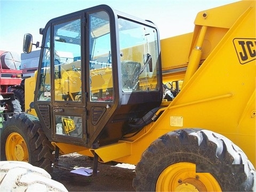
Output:
[[132,180],[135,177],[135,166],[130,164],[98,164],[97,175],[84,176],[70,173],[78,167],[92,169],[93,160],[79,154],[60,156],[60,169],[54,167],[52,179],[62,183],[68,191],[135,191]]

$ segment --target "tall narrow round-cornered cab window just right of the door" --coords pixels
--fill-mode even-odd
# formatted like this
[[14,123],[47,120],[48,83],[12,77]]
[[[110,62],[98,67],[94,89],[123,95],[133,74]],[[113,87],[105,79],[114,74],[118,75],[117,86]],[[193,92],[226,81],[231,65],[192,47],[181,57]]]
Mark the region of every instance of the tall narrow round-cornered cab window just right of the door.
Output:
[[90,18],[90,101],[114,100],[109,16],[105,11]]

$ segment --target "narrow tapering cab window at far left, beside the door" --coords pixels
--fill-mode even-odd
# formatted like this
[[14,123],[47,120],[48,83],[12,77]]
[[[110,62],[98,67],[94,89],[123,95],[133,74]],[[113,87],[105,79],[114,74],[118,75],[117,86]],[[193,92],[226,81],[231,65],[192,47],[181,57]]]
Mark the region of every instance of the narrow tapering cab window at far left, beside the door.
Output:
[[44,46],[44,56],[43,56],[41,71],[38,71],[38,74],[37,74],[40,76],[37,100],[50,101],[51,100],[50,28],[47,29],[46,39],[43,46]]

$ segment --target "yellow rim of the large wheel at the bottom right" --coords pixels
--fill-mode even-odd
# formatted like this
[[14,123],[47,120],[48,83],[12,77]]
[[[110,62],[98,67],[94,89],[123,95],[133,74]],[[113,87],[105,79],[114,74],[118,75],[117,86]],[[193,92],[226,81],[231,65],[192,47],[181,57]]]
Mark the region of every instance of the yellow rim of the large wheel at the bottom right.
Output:
[[194,163],[175,163],[164,169],[156,183],[156,191],[221,191],[210,173],[196,173]]

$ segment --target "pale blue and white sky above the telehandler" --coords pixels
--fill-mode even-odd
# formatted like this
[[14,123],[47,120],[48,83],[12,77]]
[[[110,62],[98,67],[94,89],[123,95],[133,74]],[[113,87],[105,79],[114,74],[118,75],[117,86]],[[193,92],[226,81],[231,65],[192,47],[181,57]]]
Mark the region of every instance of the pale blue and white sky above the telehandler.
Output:
[[[154,22],[160,38],[190,33],[199,11],[238,0],[0,0],[0,50],[22,53],[23,36],[42,41],[39,28],[47,21],[92,6],[107,4],[113,9]],[[39,48],[38,48],[39,49]],[[38,50],[33,48],[33,51]]]

